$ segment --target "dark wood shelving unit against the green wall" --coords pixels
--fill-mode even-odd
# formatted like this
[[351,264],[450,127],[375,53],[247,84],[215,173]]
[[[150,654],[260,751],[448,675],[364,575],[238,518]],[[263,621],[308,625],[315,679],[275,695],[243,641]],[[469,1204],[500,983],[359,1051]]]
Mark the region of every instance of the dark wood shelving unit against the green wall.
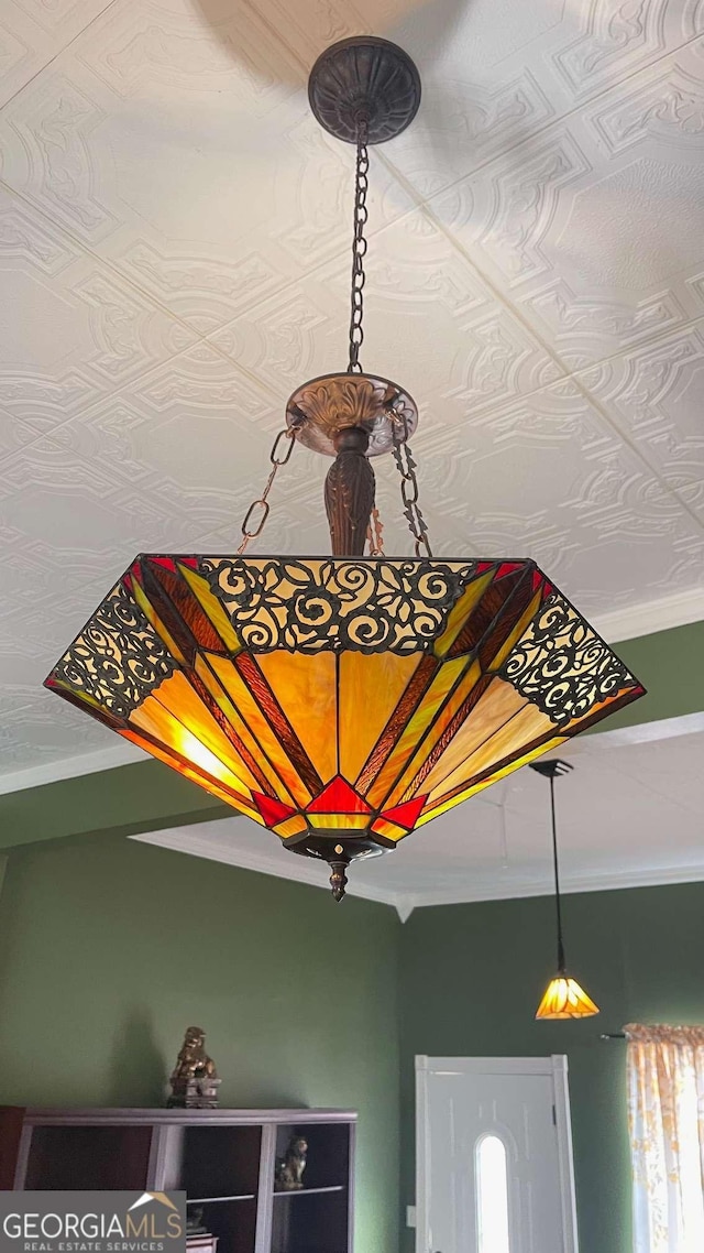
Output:
[[[0,1182],[19,1189],[183,1190],[217,1253],[352,1253],[351,1110],[0,1106]],[[304,1185],[276,1160],[308,1141]]]

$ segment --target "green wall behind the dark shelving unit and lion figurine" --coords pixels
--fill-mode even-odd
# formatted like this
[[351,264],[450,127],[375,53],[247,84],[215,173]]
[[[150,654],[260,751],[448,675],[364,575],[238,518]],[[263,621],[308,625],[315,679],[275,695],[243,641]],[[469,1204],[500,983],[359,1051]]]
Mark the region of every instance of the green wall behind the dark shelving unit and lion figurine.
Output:
[[134,841],[15,853],[0,1101],[160,1105],[184,1029],[223,1105],[360,1111],[357,1253],[396,1253],[401,923],[386,906]]

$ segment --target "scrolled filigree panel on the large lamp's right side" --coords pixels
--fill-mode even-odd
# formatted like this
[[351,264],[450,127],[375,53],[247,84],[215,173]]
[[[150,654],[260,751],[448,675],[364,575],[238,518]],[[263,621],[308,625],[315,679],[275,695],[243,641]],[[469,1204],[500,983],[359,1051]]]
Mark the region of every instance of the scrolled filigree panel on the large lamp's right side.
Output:
[[572,606],[554,593],[501,677],[562,727],[638,682]]

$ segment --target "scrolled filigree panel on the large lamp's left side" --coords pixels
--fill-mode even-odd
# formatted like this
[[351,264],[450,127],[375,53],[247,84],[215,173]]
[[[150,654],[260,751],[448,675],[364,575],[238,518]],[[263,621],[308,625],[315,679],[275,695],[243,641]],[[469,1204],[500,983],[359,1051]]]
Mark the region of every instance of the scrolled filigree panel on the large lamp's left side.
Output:
[[75,695],[96,700],[115,718],[129,718],[175,669],[177,662],[119,583],[64,653],[51,678]]

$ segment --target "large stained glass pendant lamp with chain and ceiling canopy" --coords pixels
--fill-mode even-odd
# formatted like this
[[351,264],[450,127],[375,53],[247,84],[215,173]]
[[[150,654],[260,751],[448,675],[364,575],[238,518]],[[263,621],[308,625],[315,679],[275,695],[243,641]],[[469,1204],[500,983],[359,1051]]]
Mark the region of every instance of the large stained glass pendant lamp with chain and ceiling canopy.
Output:
[[[360,363],[368,148],[412,120],[418,74],[393,44],[348,39],[318,59],[308,94],[356,148],[347,368],[288,400],[237,553],[137,556],[46,685],[327,861],[339,900],[351,861],[644,689],[534,561],[433,558],[408,444],[416,406]],[[332,556],[246,555],[296,444],[334,457]],[[371,459],[388,452],[411,558],[382,550]]]

